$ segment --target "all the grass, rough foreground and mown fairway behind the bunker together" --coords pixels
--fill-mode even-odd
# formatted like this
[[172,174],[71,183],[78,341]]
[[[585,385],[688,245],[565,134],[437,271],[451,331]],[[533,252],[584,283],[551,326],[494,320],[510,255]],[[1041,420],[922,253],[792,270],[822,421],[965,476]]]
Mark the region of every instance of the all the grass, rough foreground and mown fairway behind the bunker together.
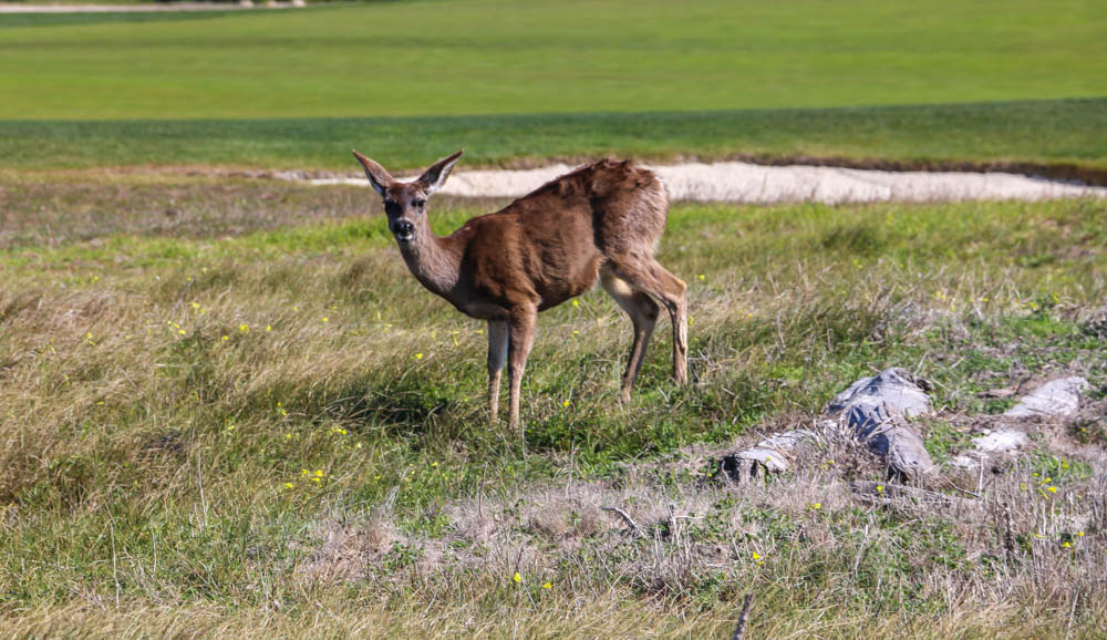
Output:
[[[526,440],[483,323],[370,189],[247,179],[601,154],[1107,176],[1094,3],[427,0],[0,17],[0,637],[1075,637],[1107,628],[1107,202],[674,204],[692,385],[602,292],[544,313]],[[1097,177],[1098,176],[1098,177]],[[1107,178],[1104,178],[1107,179]],[[446,233],[503,202],[442,199]],[[907,497],[824,432],[933,384]],[[976,476],[1014,400],[1082,413]],[[965,489],[970,489],[968,493]],[[623,509],[631,528],[611,507]],[[635,529],[638,533],[635,533]]]

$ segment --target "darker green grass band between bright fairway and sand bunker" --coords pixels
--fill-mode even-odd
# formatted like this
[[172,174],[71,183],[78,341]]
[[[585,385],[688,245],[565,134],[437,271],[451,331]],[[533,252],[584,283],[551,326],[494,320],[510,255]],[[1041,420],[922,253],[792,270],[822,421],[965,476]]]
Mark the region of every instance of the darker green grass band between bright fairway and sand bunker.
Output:
[[943,106],[271,121],[0,122],[0,167],[235,165],[390,168],[457,147],[467,166],[520,157],[682,154],[1017,161],[1107,167],[1107,100]]

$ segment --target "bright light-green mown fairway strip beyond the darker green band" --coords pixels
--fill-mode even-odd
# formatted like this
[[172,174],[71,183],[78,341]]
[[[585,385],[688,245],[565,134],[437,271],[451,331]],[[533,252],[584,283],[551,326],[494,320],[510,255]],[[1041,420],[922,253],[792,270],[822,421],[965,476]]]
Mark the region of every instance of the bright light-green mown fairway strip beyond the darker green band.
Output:
[[1085,0],[453,0],[0,30],[0,118],[577,113],[1107,93]]

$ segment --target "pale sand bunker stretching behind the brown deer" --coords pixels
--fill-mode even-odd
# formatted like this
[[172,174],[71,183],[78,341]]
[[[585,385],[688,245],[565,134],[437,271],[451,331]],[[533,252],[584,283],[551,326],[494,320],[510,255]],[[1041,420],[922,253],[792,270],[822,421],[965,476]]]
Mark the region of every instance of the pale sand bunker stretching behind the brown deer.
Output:
[[[563,164],[538,169],[456,171],[442,193],[452,196],[519,197],[572,171]],[[764,166],[739,162],[651,166],[674,200],[730,203],[870,203],[973,199],[1042,200],[1107,197],[1088,187],[1005,173],[883,172],[817,166]],[[362,184],[321,178],[311,184]]]

